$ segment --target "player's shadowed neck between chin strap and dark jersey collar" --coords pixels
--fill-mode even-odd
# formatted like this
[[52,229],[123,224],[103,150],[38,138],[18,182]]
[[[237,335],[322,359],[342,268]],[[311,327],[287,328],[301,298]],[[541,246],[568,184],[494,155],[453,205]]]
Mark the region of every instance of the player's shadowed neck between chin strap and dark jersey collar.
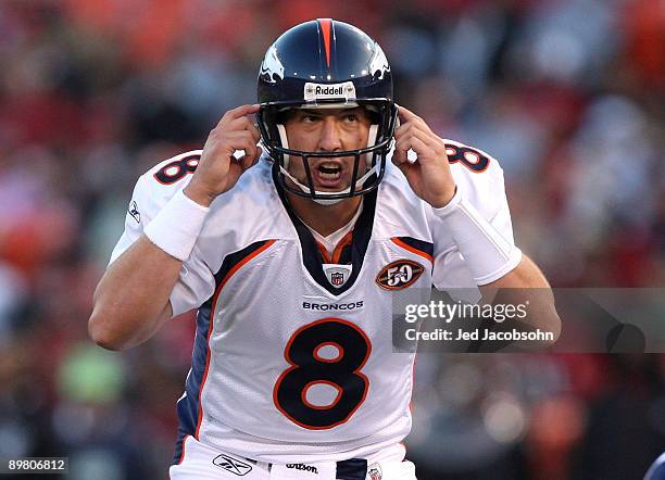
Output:
[[362,200],[361,197],[352,197],[334,205],[322,205],[293,193],[287,192],[287,195],[300,219],[323,237],[329,236],[351,222]]

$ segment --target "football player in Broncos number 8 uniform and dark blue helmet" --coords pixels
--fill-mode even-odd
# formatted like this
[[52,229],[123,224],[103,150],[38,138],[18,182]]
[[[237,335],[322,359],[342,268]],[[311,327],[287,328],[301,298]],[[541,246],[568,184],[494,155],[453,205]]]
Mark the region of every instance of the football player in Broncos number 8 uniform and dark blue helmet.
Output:
[[90,334],[127,349],[198,308],[172,479],[415,479],[392,295],[548,288],[502,169],[398,106],[382,50],[342,22],[283,34],[258,96],[139,178]]

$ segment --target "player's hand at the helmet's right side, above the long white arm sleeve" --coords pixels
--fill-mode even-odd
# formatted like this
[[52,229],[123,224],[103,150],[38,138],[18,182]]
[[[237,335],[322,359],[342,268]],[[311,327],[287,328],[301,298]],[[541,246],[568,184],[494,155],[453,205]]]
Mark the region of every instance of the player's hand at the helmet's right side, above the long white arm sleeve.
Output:
[[[423,118],[401,105],[401,125],[394,130],[394,163],[406,176],[416,195],[435,209],[446,206],[455,194],[455,180],[450,172],[446,146]],[[409,160],[409,150],[417,159]]]

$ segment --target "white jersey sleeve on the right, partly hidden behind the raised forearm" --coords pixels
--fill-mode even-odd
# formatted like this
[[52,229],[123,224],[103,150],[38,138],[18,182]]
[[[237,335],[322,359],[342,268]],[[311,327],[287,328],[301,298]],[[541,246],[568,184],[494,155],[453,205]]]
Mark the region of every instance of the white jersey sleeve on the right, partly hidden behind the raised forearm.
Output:
[[[511,212],[505,195],[503,169],[495,159],[476,149],[470,150],[487,159],[487,167],[475,169],[473,168],[475,165],[467,166],[462,162],[451,164],[457,189],[499,233],[515,244]],[[460,253],[450,233],[446,231],[446,227],[434,214],[430,217],[430,228],[435,239],[434,286],[439,290],[476,287],[464,256]],[[511,258],[503,268],[487,278],[486,283],[503,277],[517,266],[519,260],[520,255]]]

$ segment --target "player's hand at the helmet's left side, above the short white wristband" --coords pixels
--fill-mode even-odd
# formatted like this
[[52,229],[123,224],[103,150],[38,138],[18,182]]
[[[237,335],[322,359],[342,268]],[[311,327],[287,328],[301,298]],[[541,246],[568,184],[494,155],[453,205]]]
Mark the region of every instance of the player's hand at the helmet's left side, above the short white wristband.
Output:
[[[253,123],[258,112],[259,104],[253,104],[240,105],[224,114],[205,140],[199,166],[185,188],[187,197],[209,206],[256,163],[262,153],[261,148],[256,147],[261,132]],[[236,150],[244,150],[244,155],[236,159]]]

